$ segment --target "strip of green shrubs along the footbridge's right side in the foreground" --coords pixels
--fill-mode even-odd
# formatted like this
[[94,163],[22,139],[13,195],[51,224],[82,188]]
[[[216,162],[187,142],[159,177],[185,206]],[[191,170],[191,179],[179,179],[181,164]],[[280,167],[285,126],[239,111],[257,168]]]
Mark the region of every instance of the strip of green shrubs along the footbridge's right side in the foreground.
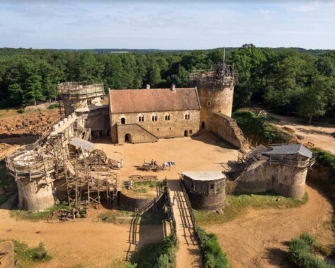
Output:
[[195,228],[197,229],[198,237],[200,239],[204,267],[229,268],[230,264],[228,262],[227,255],[222,251],[216,234],[207,234],[207,232],[198,225]]

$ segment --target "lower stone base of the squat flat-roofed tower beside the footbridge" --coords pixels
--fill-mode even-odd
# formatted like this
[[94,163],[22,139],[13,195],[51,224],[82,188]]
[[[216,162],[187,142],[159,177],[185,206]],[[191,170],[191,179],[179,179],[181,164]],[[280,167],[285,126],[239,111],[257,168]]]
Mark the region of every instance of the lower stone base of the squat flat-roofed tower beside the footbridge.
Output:
[[223,190],[221,193],[216,193],[216,195],[199,195],[196,193],[191,193],[187,189],[186,193],[193,209],[218,210],[225,206],[225,190]]

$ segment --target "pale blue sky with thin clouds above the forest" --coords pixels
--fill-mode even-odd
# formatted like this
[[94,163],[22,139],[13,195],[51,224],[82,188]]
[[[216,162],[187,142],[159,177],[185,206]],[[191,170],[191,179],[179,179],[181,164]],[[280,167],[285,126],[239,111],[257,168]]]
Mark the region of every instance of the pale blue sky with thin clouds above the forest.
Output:
[[335,49],[335,0],[0,0],[0,47]]

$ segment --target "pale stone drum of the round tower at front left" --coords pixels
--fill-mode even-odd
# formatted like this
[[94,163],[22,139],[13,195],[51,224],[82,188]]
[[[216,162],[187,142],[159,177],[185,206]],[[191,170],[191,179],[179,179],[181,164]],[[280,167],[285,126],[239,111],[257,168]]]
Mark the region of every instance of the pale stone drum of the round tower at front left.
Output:
[[52,179],[17,179],[20,209],[39,211],[54,205]]

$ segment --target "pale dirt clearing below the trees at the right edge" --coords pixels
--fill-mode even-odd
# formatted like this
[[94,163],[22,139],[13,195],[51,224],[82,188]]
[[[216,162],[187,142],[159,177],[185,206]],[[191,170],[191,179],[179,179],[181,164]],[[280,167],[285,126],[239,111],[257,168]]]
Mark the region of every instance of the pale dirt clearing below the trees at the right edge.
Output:
[[276,114],[272,116],[280,119],[280,122],[274,122],[274,124],[280,128],[288,127],[295,131],[293,134],[301,135],[304,138],[299,140],[301,144],[307,144],[311,142],[314,147],[325,149],[335,154],[335,137],[332,137],[332,133],[335,133],[334,125],[322,125],[322,126],[308,126],[301,124],[301,119],[297,117],[283,117]]

